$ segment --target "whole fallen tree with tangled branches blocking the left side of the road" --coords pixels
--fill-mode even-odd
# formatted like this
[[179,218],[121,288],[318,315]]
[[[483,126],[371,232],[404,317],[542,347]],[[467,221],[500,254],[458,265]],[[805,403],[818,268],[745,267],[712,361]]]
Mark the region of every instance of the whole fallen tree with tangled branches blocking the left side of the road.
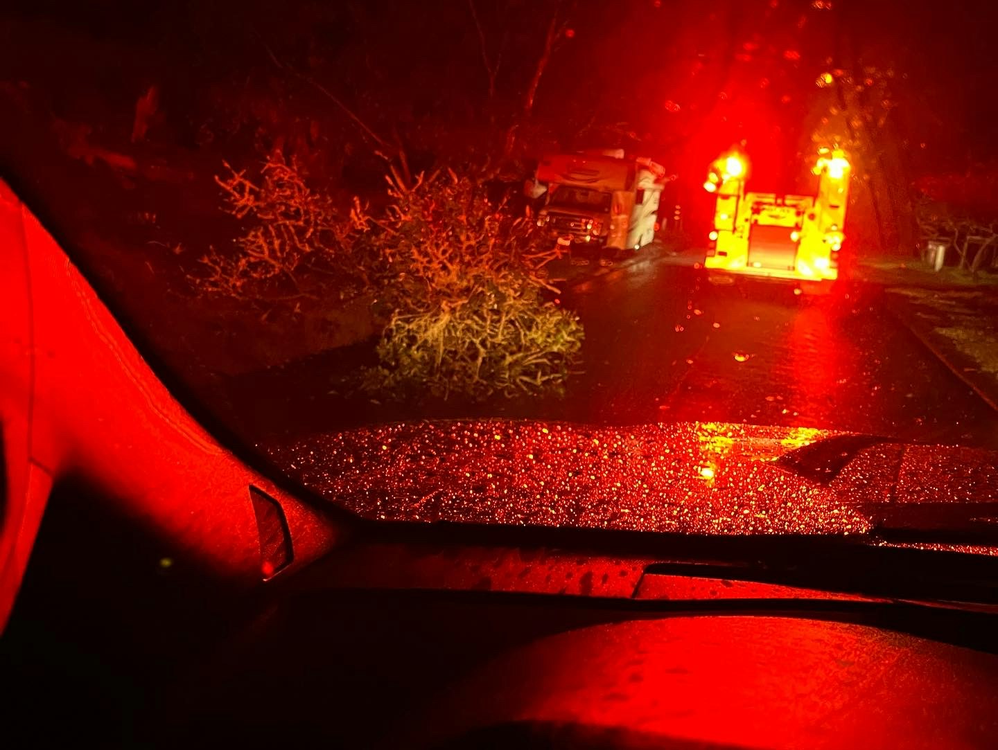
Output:
[[[271,159],[259,179],[227,165],[222,209],[244,221],[229,248],[212,248],[189,274],[203,295],[262,309],[332,313],[358,296],[386,320],[379,364],[365,387],[382,396],[471,399],[561,389],[577,367],[578,318],[545,299],[546,264],[559,248],[533,221],[494,203],[454,172],[396,171],[378,215],[348,211]],[[293,316],[292,316],[293,317]]]

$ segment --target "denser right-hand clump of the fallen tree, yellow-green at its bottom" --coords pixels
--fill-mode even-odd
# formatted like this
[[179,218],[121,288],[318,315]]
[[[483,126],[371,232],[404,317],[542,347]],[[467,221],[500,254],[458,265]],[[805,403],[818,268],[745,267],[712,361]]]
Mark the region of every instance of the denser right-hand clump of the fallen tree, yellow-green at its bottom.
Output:
[[378,239],[393,313],[372,387],[444,398],[561,388],[583,330],[542,295],[557,249],[453,172],[389,185],[394,204]]

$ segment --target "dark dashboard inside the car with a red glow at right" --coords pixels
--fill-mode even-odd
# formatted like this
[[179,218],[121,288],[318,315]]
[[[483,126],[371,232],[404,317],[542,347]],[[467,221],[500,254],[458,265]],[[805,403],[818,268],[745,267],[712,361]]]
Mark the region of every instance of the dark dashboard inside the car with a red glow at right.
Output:
[[998,730],[983,612],[724,581],[732,597],[701,597],[648,582],[661,565],[638,598],[475,590],[437,564],[467,549],[420,571],[425,550],[360,538],[238,601],[150,565],[155,541],[86,498],[49,510],[0,641],[19,746],[936,748]]

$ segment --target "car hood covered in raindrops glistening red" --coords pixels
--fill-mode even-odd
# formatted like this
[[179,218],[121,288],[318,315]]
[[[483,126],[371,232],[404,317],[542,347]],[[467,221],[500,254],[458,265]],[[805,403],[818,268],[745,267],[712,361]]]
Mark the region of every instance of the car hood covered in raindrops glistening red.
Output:
[[375,520],[690,535],[998,532],[998,453],[812,428],[431,421],[265,451],[307,489]]

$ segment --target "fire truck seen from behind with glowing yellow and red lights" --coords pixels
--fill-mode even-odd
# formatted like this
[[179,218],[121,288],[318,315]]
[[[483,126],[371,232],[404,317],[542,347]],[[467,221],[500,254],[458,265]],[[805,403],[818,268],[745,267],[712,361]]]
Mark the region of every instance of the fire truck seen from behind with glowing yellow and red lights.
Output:
[[[822,149],[812,173],[815,195],[746,192],[748,160],[728,154],[711,166],[704,188],[717,194],[706,265],[718,274],[833,281],[845,235],[849,162]],[[723,278],[725,276],[722,276]]]

